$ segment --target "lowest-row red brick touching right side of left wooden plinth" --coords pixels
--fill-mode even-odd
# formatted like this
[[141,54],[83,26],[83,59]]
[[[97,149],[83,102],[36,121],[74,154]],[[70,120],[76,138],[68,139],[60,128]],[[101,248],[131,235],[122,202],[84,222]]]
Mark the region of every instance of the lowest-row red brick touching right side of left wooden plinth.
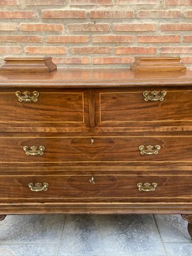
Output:
[[90,63],[88,57],[68,57],[68,58],[52,58],[52,61],[56,64],[76,64],[76,65],[87,65]]

